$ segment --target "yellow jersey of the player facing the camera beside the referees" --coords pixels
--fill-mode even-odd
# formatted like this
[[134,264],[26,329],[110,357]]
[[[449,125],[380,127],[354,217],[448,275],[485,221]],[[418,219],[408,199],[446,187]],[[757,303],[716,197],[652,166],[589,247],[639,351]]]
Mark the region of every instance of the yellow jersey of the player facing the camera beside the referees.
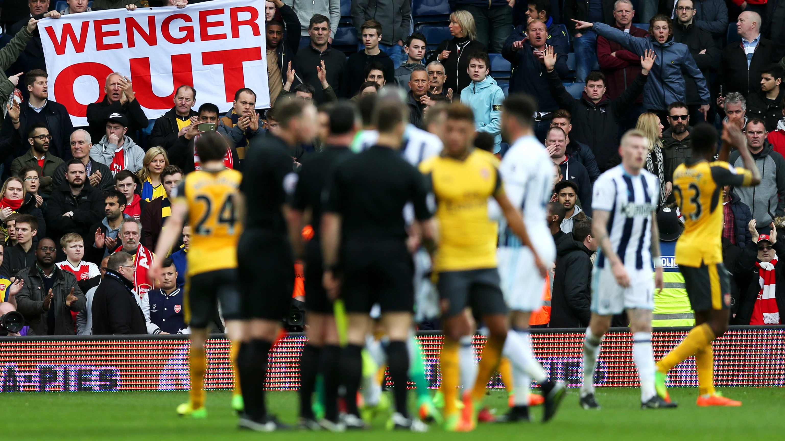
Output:
[[496,267],[497,224],[488,218],[488,198],[502,186],[498,159],[474,149],[463,161],[434,156],[420,163],[436,196],[439,248],[437,272]]

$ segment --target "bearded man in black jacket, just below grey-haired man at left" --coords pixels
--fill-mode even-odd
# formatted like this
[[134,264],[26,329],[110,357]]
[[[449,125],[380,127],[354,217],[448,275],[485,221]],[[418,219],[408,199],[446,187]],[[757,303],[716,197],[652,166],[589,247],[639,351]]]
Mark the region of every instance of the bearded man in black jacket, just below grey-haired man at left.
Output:
[[104,208],[104,192],[85,185],[87,177],[81,160],[68,161],[65,180],[49,198],[46,218],[49,235],[57,242],[66,233],[76,233],[82,237],[94,233],[95,230],[89,231],[89,227],[100,221],[101,209]]

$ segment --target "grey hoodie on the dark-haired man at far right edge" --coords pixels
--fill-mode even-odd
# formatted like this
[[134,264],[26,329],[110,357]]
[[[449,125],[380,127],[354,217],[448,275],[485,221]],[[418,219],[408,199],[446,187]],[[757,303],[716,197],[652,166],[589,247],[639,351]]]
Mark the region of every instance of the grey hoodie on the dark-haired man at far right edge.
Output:
[[[761,184],[735,188],[734,191],[741,202],[750,207],[758,228],[765,228],[772,223],[772,216],[785,216],[785,199],[777,196],[785,195],[785,159],[774,151],[768,140],[763,144],[763,150],[754,153],[752,158],[761,172]],[[728,162],[734,167],[744,166],[738,150],[731,152]]]

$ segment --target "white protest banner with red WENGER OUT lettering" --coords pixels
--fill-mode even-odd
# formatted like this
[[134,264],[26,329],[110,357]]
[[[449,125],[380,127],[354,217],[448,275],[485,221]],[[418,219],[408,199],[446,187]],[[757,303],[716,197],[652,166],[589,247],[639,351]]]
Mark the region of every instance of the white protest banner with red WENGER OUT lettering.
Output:
[[232,108],[237,89],[270,107],[265,0],[214,0],[176,7],[111,9],[41,20],[49,98],[86,126],[87,104],[104,99],[111,72],[131,79],[148,118],[173,107],[177,86],[196,89],[196,105]]

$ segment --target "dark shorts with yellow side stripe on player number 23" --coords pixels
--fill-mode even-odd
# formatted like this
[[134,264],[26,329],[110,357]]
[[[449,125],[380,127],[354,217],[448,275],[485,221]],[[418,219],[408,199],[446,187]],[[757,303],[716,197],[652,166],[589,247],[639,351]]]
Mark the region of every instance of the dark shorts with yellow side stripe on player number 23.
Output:
[[728,309],[731,303],[730,275],[722,262],[700,268],[679,265],[685,277],[687,297],[693,311]]

